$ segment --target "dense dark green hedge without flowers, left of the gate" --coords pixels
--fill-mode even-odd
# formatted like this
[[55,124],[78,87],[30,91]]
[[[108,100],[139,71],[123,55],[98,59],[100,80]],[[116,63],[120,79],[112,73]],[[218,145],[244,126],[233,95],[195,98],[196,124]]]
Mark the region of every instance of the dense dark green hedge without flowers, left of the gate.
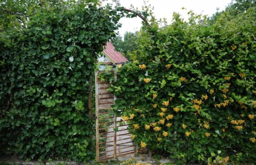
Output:
[[88,81],[120,14],[92,0],[19,2],[21,12],[9,0],[1,4],[9,19],[0,27],[1,151],[94,159]]

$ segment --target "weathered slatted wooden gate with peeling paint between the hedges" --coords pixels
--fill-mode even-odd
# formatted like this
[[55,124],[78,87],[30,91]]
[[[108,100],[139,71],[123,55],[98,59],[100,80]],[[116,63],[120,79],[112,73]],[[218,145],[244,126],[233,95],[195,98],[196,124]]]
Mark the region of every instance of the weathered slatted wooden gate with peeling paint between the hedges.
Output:
[[[116,71],[113,73],[116,81]],[[120,156],[134,154],[138,146],[130,138],[127,122],[123,122],[111,110],[116,96],[108,92],[111,83],[100,81],[99,74],[105,71],[96,71],[95,73],[95,114],[96,114],[96,160],[105,161],[115,159]]]

